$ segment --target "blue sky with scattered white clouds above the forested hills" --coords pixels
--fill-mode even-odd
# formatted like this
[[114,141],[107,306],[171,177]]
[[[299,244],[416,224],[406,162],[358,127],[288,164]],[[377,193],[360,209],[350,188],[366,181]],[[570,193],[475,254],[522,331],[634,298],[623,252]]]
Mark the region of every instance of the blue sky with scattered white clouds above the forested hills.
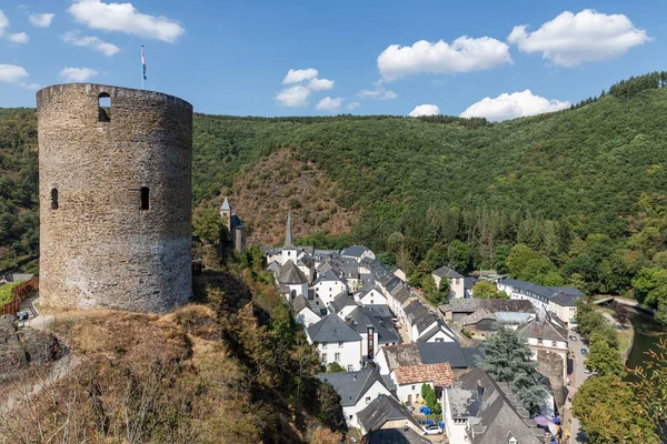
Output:
[[664,69],[667,2],[634,3],[2,0],[0,107],[67,81],[139,88],[145,44],[147,89],[198,112],[502,120]]

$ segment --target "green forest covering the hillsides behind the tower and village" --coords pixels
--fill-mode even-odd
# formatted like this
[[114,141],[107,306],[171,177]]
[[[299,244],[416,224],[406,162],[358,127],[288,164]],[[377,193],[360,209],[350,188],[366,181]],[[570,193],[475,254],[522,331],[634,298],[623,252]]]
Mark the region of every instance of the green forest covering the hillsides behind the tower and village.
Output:
[[[258,160],[289,150],[355,214],[351,232],[313,229],[308,243],[366,244],[417,285],[442,264],[496,269],[635,295],[667,321],[666,79],[630,78],[569,110],[501,123],[196,114],[193,205],[210,206]],[[0,113],[4,264],[37,251],[34,121],[31,110]]]

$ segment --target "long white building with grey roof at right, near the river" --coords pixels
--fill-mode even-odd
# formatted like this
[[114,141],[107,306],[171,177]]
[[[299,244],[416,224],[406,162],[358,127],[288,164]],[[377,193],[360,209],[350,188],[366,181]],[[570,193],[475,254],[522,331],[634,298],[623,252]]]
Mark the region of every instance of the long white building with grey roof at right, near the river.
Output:
[[551,312],[566,326],[576,323],[576,302],[585,295],[573,286],[542,286],[517,279],[504,279],[496,285],[511,299],[528,300],[536,307]]

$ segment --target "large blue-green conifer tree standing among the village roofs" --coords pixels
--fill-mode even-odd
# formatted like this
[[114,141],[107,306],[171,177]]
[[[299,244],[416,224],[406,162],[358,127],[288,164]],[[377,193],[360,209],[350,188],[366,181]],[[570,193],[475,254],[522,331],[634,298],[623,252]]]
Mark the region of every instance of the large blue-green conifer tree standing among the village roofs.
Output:
[[537,371],[537,362],[531,357],[525,336],[511,329],[499,329],[486,341],[479,366],[497,382],[509,383],[524,406],[537,414],[547,391],[540,382],[542,375]]

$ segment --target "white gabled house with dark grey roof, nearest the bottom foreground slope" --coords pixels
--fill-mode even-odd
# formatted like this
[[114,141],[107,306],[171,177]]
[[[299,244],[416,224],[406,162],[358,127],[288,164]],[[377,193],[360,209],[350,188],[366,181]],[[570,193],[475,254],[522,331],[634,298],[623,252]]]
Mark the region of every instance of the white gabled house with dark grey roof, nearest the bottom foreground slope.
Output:
[[392,396],[380,374],[371,366],[355,372],[320,373],[340,395],[340,405],[348,427],[361,428],[358,414],[380,395]]

